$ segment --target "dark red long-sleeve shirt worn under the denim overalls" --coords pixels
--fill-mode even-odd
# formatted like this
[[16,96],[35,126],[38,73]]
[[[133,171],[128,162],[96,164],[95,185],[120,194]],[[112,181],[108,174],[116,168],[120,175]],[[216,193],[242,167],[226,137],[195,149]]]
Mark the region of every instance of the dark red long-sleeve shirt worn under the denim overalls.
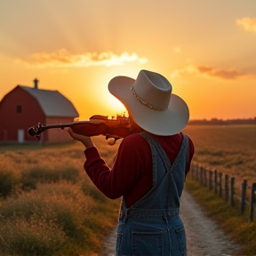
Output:
[[[152,135],[152,134],[151,134]],[[171,163],[180,151],[181,133],[172,136],[152,135],[162,145]],[[187,167],[194,155],[194,145],[189,139]],[[124,196],[125,204],[131,207],[152,188],[152,156],[148,141],[139,134],[132,134],[123,139],[117,151],[112,169],[100,157],[97,148],[84,150],[86,161],[84,170],[97,188],[111,199]]]

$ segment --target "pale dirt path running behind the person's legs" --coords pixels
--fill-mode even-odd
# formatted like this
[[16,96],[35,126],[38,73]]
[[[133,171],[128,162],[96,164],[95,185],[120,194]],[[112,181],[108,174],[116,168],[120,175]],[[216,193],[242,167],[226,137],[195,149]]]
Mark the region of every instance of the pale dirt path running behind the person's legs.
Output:
[[[187,191],[181,197],[180,217],[186,228],[188,256],[235,256],[241,252],[241,248],[206,217]],[[116,229],[104,244],[103,256],[115,256],[115,244]]]

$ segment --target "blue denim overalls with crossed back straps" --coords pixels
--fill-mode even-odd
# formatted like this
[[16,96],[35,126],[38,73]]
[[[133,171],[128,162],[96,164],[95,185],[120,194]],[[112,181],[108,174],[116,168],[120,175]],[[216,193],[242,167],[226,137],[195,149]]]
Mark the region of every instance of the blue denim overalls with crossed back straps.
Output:
[[180,219],[180,196],[188,159],[188,136],[182,133],[180,152],[173,164],[162,146],[141,132],[151,148],[153,188],[132,207],[122,198],[116,256],[187,255],[186,234]]

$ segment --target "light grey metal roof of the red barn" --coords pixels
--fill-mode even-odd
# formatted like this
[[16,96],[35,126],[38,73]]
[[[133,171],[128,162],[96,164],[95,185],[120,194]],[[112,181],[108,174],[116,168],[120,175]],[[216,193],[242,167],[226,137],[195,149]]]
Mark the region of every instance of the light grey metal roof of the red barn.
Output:
[[58,91],[42,90],[28,86],[18,85],[31,94],[39,103],[45,116],[78,117],[79,114],[65,96]]

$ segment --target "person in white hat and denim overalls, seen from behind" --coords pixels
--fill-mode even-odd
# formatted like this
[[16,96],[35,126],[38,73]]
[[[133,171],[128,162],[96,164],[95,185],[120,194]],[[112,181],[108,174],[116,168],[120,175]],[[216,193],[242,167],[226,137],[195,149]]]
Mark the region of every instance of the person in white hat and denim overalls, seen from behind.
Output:
[[194,155],[192,140],[181,132],[188,105],[172,93],[162,75],[140,70],[137,79],[116,76],[108,90],[129,113],[131,129],[109,168],[90,137],[68,132],[84,144],[84,170],[111,199],[122,196],[116,256],[186,255],[180,196]]

